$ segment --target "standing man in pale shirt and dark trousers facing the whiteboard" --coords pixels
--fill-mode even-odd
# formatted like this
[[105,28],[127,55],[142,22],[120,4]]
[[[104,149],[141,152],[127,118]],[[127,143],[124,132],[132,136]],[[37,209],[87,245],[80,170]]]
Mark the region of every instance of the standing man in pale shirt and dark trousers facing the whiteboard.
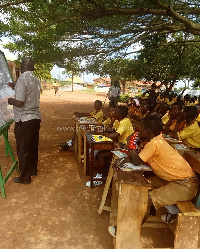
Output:
[[22,74],[16,85],[8,83],[15,90],[15,98],[9,98],[8,103],[14,106],[14,133],[20,170],[20,176],[15,177],[14,182],[21,184],[31,183],[31,176],[37,175],[41,85],[33,71],[33,59],[27,57],[21,63]]

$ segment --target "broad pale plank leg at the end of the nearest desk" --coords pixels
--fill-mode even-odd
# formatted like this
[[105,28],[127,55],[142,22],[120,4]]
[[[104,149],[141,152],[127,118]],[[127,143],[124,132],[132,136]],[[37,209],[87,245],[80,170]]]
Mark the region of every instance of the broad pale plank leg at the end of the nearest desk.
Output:
[[148,188],[121,183],[118,198],[116,249],[142,249],[140,230],[147,211]]

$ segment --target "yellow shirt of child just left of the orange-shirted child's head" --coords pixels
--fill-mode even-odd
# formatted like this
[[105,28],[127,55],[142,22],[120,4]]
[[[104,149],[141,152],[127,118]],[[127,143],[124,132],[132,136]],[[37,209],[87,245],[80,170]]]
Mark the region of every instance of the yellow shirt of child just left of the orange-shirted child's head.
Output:
[[124,144],[127,144],[127,137],[134,132],[129,118],[124,118],[120,122],[118,121],[118,123],[114,123],[113,128],[116,129],[116,132],[120,134],[118,141]]

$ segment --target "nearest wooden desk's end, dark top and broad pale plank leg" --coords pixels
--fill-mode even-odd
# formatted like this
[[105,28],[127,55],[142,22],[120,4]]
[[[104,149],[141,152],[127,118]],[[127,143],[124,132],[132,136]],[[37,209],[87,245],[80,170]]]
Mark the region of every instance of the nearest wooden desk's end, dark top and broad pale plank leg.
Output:
[[117,226],[116,249],[142,249],[140,231],[147,211],[149,186],[141,171],[114,172],[110,223]]

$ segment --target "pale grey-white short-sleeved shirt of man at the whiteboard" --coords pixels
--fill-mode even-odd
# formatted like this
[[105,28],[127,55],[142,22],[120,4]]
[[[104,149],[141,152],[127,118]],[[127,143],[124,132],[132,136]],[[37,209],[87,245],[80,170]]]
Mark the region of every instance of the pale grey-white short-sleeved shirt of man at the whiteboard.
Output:
[[15,99],[23,101],[24,105],[13,107],[15,122],[41,119],[40,90],[41,84],[33,72],[26,71],[20,75],[15,85]]

